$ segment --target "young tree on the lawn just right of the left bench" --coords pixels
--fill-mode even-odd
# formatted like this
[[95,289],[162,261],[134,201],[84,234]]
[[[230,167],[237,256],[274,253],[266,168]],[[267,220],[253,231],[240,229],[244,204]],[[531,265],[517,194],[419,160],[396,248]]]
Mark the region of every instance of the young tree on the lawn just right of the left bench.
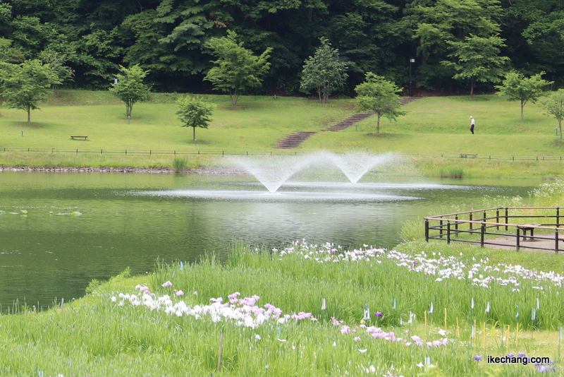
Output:
[[149,71],[143,71],[139,64],[125,68],[119,66],[118,84],[109,88],[110,92],[125,102],[125,116],[131,116],[133,104],[149,100],[151,89],[143,83]]

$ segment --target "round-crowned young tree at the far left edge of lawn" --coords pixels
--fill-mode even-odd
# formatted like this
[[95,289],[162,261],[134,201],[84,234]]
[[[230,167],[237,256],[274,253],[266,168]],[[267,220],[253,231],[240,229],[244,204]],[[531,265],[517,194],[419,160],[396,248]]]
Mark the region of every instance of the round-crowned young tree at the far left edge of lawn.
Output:
[[8,106],[27,112],[27,123],[31,111],[39,109],[37,104],[47,100],[51,85],[61,83],[49,64],[39,60],[27,60],[22,64],[0,63],[1,95]]

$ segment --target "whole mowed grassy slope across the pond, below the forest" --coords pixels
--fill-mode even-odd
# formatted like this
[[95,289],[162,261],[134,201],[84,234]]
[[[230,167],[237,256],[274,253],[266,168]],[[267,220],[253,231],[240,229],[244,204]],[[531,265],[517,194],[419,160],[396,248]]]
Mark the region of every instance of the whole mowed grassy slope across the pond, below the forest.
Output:
[[[242,97],[240,105],[233,108],[228,97],[209,95],[204,97],[216,104],[216,111],[209,129],[197,130],[195,144],[191,130],[180,127],[174,114],[177,97],[155,94],[150,102],[135,104],[130,124],[124,116],[125,107],[109,92],[60,90],[42,105],[42,111],[33,112],[31,124],[25,123],[25,112],[1,109],[0,164],[170,167],[173,152],[178,151],[187,153],[183,157],[190,167],[213,166],[221,164],[218,154],[276,152],[276,141],[290,133],[321,131],[355,112],[353,100],[319,104],[295,97]],[[536,159],[564,155],[564,144],[554,133],[556,121],[533,104],[525,108],[524,121],[520,120],[519,104],[496,95],[473,100],[428,97],[406,104],[405,110],[407,116],[397,122],[384,120],[380,134],[375,133],[376,119],[372,117],[345,131],[317,132],[302,148],[290,153],[398,152],[409,154],[424,174],[432,176],[457,176],[462,172],[463,176],[551,178],[561,174],[559,162],[496,160],[498,156]],[[469,114],[477,119],[475,135],[467,130]],[[88,138],[71,140],[71,135]],[[11,148],[48,149],[27,152]],[[127,155],[125,150],[129,151]],[[170,154],[149,155],[149,151],[163,150]],[[456,157],[460,153],[474,153],[479,158],[466,161],[438,157]],[[435,157],[421,158],[417,154]],[[489,156],[495,161],[484,160]]]

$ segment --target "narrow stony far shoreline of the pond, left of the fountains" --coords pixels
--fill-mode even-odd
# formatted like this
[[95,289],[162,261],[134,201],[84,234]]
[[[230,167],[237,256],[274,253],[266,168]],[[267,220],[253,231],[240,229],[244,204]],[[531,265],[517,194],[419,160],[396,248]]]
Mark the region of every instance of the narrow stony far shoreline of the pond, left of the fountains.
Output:
[[145,174],[247,174],[243,169],[224,167],[189,167],[175,172],[171,167],[17,167],[0,166],[0,172],[51,173],[145,173]]

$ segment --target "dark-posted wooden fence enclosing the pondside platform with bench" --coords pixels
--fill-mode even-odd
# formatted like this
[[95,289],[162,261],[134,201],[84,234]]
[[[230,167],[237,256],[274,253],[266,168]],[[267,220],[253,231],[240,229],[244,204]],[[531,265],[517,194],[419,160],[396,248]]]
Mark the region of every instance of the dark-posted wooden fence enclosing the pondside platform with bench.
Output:
[[563,208],[498,207],[425,217],[425,240],[469,242],[481,247],[564,249]]

